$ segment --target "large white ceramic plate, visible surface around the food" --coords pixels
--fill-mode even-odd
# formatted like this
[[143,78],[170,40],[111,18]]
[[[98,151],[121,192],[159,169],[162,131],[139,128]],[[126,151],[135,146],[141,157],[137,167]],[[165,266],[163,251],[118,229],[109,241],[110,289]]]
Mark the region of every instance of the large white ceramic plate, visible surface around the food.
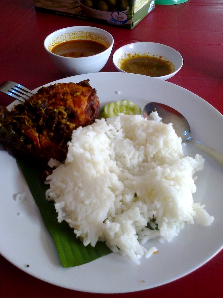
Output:
[[[187,117],[195,139],[222,150],[223,139],[219,136],[222,135],[223,116],[190,91],[156,78],[119,72],[78,75],[59,82],[77,83],[85,79],[90,79],[101,104],[128,99],[141,108],[150,101],[172,105]],[[188,144],[185,153],[194,156],[197,149]],[[223,168],[204,157],[205,169],[198,172],[194,201],[205,204],[205,209],[214,216],[211,226],[186,226],[170,243],[152,240],[148,247],[156,246],[158,253],[142,259],[140,265],[113,253],[82,266],[63,269],[54,242],[43,225],[15,159],[0,150],[0,252],[34,277],[61,287],[93,293],[140,291],[183,277],[202,266],[223,247]],[[14,201],[15,194],[22,191],[27,192],[27,199]]]

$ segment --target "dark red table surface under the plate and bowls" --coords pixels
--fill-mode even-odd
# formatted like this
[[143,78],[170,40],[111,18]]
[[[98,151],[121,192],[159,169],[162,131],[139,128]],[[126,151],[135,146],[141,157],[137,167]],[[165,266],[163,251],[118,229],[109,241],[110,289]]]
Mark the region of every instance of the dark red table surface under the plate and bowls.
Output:
[[[183,56],[184,64],[169,81],[194,92],[223,114],[223,1],[189,0],[178,5],[156,5],[129,30],[36,12],[32,0],[1,0],[0,83],[12,80],[34,89],[63,78],[49,60],[43,41],[49,33],[75,25],[109,31],[114,45],[134,39],[175,48]],[[112,55],[102,71],[116,71]],[[0,94],[1,105],[12,101]],[[0,297],[219,297],[223,292],[222,262],[223,251],[196,271],[169,284],[135,293],[106,295],[48,284],[16,268],[0,255]]]

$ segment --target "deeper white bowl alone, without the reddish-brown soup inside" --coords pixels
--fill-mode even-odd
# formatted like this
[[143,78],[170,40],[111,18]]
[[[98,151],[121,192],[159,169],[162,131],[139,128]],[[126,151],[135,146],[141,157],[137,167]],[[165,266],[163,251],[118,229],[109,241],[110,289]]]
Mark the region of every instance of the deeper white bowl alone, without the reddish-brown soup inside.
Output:
[[[64,57],[51,52],[57,44],[75,39],[97,41],[106,46],[107,49],[99,54],[80,58]],[[103,29],[90,26],[74,26],[57,30],[48,35],[44,41],[44,48],[61,72],[66,76],[73,76],[99,72],[107,63],[113,44],[114,38]]]

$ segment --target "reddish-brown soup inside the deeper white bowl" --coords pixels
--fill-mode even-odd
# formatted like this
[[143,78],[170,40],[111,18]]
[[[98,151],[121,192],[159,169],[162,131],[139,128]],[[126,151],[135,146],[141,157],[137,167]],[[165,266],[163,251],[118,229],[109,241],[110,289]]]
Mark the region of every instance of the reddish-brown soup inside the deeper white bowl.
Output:
[[57,44],[51,52],[64,57],[88,57],[99,54],[107,49],[103,44],[92,40],[70,40]]

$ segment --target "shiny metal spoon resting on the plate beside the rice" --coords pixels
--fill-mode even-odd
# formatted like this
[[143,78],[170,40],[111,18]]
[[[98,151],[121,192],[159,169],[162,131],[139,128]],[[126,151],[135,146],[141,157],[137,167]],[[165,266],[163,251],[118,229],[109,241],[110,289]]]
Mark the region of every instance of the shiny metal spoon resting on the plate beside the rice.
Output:
[[162,118],[163,123],[173,124],[173,128],[175,129],[176,134],[181,137],[182,143],[190,143],[223,167],[223,154],[192,139],[190,125],[182,114],[169,105],[152,102],[145,105],[145,108],[143,109],[143,115],[147,119],[153,119],[150,114],[154,111],[158,112],[158,115]]

